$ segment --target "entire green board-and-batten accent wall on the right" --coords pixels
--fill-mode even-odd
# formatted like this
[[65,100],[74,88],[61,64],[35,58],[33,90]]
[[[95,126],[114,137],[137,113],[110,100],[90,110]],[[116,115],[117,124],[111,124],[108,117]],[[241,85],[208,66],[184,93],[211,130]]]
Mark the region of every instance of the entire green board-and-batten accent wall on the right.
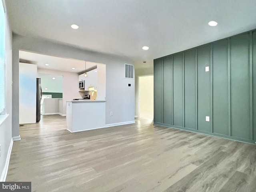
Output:
[[256,30],[155,59],[154,124],[255,143]]

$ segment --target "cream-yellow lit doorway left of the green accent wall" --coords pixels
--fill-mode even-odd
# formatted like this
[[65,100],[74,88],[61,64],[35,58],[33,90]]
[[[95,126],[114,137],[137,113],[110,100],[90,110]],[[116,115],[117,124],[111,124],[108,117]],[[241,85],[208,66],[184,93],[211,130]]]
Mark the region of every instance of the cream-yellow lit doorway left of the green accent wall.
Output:
[[140,118],[154,118],[154,76],[138,76]]

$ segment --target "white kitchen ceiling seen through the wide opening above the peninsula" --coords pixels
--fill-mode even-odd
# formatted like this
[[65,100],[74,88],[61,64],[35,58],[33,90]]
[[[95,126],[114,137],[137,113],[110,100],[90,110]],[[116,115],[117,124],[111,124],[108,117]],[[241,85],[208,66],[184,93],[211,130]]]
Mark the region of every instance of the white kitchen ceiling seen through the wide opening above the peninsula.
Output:
[[[60,70],[82,74],[85,72],[85,61],[70,58],[60,58],[49,55],[19,51],[20,62],[36,64],[38,68]],[[45,64],[49,64],[46,66]],[[97,63],[86,61],[86,71],[96,68]],[[72,70],[72,68],[75,70]]]

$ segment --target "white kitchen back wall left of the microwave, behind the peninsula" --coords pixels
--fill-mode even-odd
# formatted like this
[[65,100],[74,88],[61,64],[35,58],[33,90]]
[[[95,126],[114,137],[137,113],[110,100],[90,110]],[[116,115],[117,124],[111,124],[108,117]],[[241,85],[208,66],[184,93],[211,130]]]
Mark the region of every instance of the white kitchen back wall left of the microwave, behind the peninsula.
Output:
[[[52,74],[63,76],[63,103],[62,103],[62,114],[66,114],[66,101],[73,100],[74,98],[82,98],[78,92],[78,74],[57,70],[38,69],[38,74]],[[48,90],[47,90],[48,91]],[[46,90],[43,90],[46,92]]]

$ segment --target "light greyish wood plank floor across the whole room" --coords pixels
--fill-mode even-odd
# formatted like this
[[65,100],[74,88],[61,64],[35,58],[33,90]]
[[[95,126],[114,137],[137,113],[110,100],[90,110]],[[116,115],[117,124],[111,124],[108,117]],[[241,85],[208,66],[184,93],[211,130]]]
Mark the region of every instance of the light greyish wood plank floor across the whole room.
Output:
[[256,145],[151,119],[77,133],[65,127],[59,115],[20,127],[6,181],[31,181],[32,192],[256,192]]

